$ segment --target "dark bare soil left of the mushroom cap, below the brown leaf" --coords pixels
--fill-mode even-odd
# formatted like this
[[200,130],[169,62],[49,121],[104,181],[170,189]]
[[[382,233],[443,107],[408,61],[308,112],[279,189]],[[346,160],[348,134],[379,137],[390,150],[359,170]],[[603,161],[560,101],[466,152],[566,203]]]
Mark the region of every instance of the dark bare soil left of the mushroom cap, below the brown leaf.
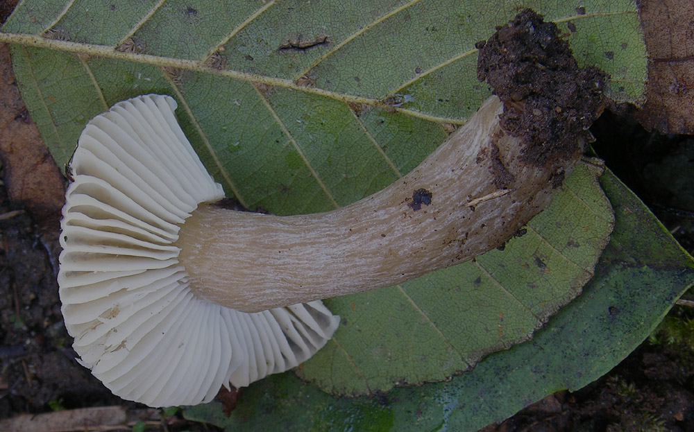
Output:
[[[1,187],[0,214],[12,210]],[[121,404],[74,360],[58,299],[58,232],[38,232],[22,212],[0,221],[0,233],[0,418]]]

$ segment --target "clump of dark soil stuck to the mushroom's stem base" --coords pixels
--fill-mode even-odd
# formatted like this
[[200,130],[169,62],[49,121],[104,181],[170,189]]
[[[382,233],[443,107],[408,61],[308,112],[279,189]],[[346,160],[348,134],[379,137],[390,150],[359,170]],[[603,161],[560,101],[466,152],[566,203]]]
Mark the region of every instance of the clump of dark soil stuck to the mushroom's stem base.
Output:
[[504,102],[502,128],[525,137],[526,162],[541,166],[584,150],[609,77],[595,67],[579,68],[555,24],[523,10],[477,48],[477,78]]

